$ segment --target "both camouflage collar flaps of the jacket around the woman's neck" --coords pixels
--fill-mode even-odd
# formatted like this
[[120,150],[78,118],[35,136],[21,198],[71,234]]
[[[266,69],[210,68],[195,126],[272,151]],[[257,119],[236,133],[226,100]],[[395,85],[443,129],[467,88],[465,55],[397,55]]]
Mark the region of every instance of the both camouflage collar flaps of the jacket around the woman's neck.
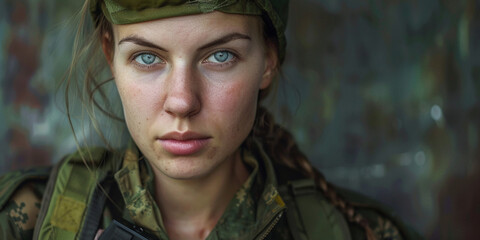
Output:
[[[145,177],[152,173],[150,165],[139,161],[136,154],[138,151],[129,151],[123,168],[115,174],[126,209],[137,225],[151,230],[160,239],[168,239],[160,210],[152,197],[153,191],[149,191],[153,188],[153,178]],[[270,233],[273,229],[270,226],[276,224],[275,219],[285,210],[273,182],[275,179],[260,177],[259,164],[248,151],[243,153],[242,159],[252,169],[250,176],[230,201],[207,240],[256,239]],[[265,187],[260,190],[261,194],[255,194],[259,189],[253,186],[260,182],[264,182]]]

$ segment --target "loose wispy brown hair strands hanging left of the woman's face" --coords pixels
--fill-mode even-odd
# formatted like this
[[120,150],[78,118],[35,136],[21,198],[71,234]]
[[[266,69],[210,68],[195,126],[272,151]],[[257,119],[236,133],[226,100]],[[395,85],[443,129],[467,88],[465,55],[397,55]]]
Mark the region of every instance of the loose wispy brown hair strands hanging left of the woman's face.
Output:
[[[92,139],[89,137],[99,136],[101,144],[113,151],[114,146],[122,143],[112,144],[112,139],[118,139],[112,135],[122,135],[126,132],[124,120],[120,117],[120,104],[117,103],[117,99],[111,97],[111,92],[115,91],[115,87],[114,84],[109,83],[113,83],[113,78],[106,71],[108,64],[105,61],[105,55],[99,51],[101,49],[100,37],[105,33],[113,36],[112,28],[105,18],[100,19],[98,25],[94,27],[92,22],[87,20],[89,17],[88,6],[89,1],[87,0],[76,16],[75,22],[78,22],[78,27],[73,43],[72,61],[61,82],[67,118],[82,156],[83,153],[87,154],[86,156],[89,155],[88,151],[83,151],[83,148],[80,147],[87,146],[91,142]],[[92,130],[90,132],[86,132],[88,130],[83,126],[84,116],[88,116],[90,119],[87,123],[90,124],[88,129]],[[114,120],[109,121],[108,125],[113,124],[116,128],[102,125],[102,118]],[[82,124],[78,127],[82,131],[76,131],[77,122]],[[123,131],[118,131],[119,127],[123,128]],[[82,144],[80,144],[80,139],[83,139]],[[91,158],[88,156],[85,159]]]

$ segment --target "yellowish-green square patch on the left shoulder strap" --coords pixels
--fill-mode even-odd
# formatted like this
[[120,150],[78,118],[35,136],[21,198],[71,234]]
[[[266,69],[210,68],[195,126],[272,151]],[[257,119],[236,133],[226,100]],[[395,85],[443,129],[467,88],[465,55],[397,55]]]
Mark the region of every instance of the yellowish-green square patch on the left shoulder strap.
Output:
[[70,232],[78,232],[84,211],[85,203],[60,195],[53,211],[52,225]]

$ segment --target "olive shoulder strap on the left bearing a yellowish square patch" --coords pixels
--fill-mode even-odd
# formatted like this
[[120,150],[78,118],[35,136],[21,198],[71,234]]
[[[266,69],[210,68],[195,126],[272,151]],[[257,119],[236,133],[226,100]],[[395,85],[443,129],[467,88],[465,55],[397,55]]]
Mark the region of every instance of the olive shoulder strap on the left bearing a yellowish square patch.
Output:
[[77,239],[81,232],[83,234],[80,230],[85,225],[85,217],[94,211],[87,206],[97,186],[114,171],[113,165],[107,162],[116,160],[106,151],[94,154],[101,164],[88,168],[73,154],[56,166],[50,175],[33,239]]

